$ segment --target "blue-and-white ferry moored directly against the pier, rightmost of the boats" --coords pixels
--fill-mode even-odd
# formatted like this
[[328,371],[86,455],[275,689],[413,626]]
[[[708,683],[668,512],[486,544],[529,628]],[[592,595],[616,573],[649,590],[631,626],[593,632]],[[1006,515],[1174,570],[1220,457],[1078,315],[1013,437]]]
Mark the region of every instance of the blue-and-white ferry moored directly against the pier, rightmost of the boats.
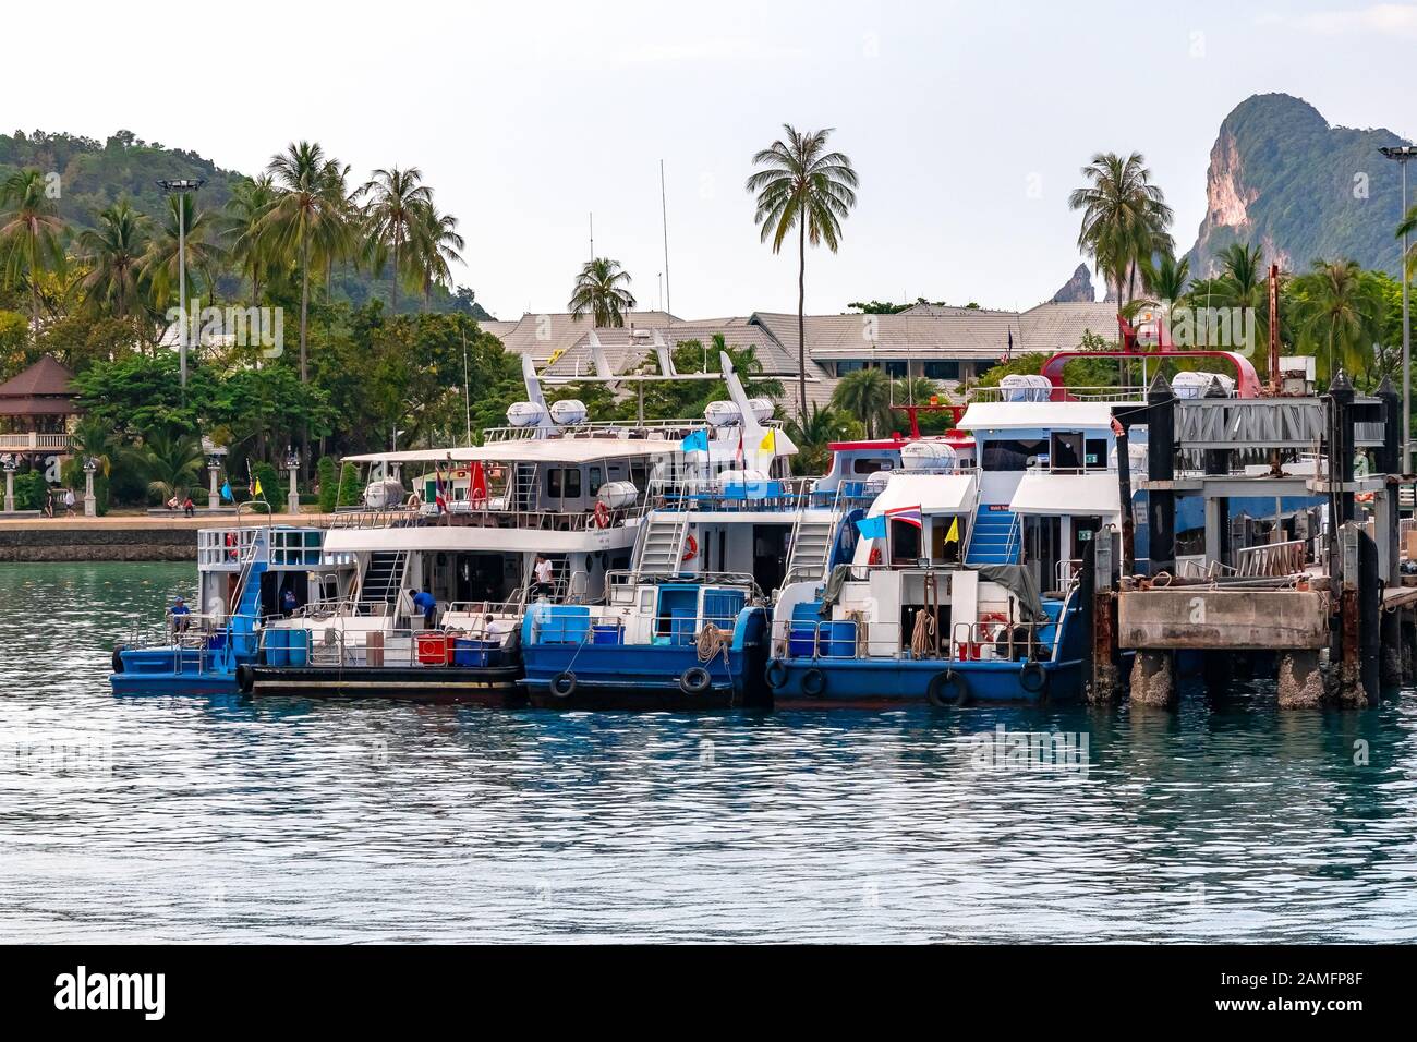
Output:
[[870,478],[879,493],[850,560],[779,593],[775,706],[1080,693],[1077,573],[1087,543],[1121,520],[1111,421],[1125,403],[1000,397],[958,421],[968,455],[944,439],[903,444],[901,466]]

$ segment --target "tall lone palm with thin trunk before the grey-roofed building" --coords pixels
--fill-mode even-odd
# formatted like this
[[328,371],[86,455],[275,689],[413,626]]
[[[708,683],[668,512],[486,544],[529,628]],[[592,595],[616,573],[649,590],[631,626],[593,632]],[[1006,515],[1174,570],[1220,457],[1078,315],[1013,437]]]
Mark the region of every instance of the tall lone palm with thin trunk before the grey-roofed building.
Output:
[[761,167],[748,177],[757,193],[754,221],[761,241],[782,250],[788,233],[798,231],[798,417],[806,420],[806,244],[826,242],[833,254],[842,240],[842,218],[856,206],[856,170],[842,152],[828,152],[832,128],[798,132],[782,125],[784,138],[752,157]]

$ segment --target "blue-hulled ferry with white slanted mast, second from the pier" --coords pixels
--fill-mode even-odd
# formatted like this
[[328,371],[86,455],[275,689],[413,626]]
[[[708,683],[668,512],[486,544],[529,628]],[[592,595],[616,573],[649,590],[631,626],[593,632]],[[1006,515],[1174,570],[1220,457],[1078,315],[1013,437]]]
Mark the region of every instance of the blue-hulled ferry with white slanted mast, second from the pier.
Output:
[[768,603],[822,574],[842,500],[789,472],[796,447],[721,357],[730,400],[649,482],[629,567],[587,604],[536,604],[521,624],[527,693],[557,709],[703,709],[765,698]]

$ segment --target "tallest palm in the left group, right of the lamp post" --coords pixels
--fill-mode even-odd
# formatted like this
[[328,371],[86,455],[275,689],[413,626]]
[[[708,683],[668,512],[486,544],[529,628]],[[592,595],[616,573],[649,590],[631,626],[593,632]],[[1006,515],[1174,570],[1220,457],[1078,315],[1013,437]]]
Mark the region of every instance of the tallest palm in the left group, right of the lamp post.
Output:
[[262,237],[279,257],[293,257],[300,265],[300,381],[310,379],[306,330],[310,313],[310,248],[343,218],[343,207],[330,194],[330,163],[324,149],[312,142],[290,143],[272,156],[266,172],[278,196],[261,220]]

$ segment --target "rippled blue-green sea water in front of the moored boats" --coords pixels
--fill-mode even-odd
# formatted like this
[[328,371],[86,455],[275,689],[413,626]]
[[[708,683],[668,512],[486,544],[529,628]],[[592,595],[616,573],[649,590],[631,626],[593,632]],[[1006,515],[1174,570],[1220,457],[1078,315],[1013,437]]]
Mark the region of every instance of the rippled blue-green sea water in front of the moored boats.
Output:
[[[191,578],[0,566],[0,940],[1417,940],[1410,693],[699,717],[115,698],[113,642]],[[1085,771],[992,767],[1000,724],[1085,736]]]

